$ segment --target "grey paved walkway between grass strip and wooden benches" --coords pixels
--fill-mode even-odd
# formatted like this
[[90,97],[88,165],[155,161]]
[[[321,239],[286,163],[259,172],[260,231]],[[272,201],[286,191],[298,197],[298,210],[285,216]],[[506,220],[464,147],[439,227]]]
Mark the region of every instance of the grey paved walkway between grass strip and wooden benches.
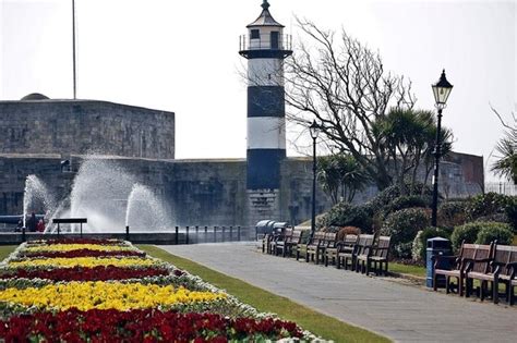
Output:
[[517,342],[517,309],[504,305],[263,255],[250,243],[161,248],[398,342]]

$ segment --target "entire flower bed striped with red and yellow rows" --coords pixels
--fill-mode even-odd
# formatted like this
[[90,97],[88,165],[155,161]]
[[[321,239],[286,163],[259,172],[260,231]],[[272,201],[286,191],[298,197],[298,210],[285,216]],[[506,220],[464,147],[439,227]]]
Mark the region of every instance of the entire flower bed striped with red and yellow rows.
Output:
[[22,244],[0,266],[0,341],[312,340],[113,240]]

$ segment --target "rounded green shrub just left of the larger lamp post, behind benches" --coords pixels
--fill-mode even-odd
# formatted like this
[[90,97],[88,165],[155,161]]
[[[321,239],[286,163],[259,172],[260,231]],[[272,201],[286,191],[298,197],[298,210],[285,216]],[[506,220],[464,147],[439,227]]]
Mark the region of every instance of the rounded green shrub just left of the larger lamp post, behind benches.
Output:
[[395,257],[410,258],[414,236],[428,225],[429,215],[425,210],[408,208],[390,213],[383,223],[381,234],[392,236]]

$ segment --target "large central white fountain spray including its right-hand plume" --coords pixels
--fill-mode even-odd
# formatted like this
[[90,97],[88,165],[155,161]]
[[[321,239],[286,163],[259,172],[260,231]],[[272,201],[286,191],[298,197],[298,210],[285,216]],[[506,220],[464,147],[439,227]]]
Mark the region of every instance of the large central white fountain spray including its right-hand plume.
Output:
[[[85,233],[122,233],[124,224],[137,231],[158,231],[167,229],[169,222],[163,203],[149,188],[115,162],[96,156],[83,160],[70,197],[55,208],[47,217],[50,220],[87,218]],[[51,224],[46,229],[46,233],[56,231]],[[79,225],[61,231],[76,233]]]

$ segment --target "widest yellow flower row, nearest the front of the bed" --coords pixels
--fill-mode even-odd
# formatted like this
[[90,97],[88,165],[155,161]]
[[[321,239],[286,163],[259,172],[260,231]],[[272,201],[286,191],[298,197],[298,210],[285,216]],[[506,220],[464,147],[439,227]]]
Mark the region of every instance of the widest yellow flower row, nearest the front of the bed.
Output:
[[159,305],[214,302],[226,297],[224,293],[191,292],[183,287],[175,289],[171,285],[103,281],[70,282],[41,289],[12,287],[0,291],[0,302],[36,306],[47,310],[67,310],[76,307],[80,310],[97,308],[125,311]]

